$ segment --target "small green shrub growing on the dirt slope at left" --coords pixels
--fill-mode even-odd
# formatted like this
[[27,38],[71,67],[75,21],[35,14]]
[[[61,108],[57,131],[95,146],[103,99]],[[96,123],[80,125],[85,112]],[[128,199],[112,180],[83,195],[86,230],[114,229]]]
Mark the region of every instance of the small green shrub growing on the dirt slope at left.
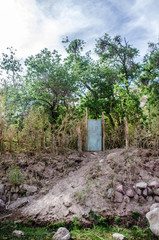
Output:
[[27,176],[26,174],[22,175],[20,173],[19,167],[15,166],[14,164],[12,164],[11,169],[7,170],[6,174],[10,183],[13,185],[22,184]]

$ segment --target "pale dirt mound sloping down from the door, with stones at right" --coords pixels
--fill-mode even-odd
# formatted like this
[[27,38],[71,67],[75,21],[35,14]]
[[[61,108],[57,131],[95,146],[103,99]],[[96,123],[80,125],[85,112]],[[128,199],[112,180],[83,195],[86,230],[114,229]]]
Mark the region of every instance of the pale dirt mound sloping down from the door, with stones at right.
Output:
[[65,165],[62,177],[50,178],[48,192],[42,194],[42,188],[36,199],[21,208],[23,217],[36,222],[79,217],[87,222],[90,211],[107,218],[131,216],[133,212],[144,215],[159,201],[158,185],[153,185],[159,177],[158,152],[114,149],[71,154],[67,162],[69,171]]

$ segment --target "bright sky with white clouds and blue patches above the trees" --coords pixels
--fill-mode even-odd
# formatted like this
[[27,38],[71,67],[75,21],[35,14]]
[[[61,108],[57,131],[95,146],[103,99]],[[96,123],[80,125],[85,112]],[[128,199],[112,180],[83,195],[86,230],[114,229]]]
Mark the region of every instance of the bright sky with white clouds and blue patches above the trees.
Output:
[[126,37],[144,56],[159,41],[159,0],[0,0],[0,56],[7,47],[19,58],[43,48],[64,55],[66,36],[93,51],[105,33]]

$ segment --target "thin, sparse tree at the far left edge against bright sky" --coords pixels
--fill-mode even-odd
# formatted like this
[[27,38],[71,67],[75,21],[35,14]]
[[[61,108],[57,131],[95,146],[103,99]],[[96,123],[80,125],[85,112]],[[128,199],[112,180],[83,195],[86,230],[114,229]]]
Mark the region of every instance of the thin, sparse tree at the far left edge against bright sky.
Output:
[[0,59],[1,94],[5,96],[5,115],[9,122],[23,117],[25,103],[22,102],[24,90],[23,69],[21,61],[16,57],[16,50],[7,48],[9,53],[2,53]]

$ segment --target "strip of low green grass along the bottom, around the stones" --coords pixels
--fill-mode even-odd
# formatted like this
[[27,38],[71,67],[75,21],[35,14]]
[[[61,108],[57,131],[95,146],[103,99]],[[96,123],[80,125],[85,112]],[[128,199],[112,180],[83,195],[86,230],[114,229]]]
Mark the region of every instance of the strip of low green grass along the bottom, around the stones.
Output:
[[[102,222],[103,223],[103,222]],[[124,229],[119,227],[110,227],[110,226],[94,226],[93,228],[87,228],[86,230],[82,229],[79,225],[79,221],[75,220],[71,224],[49,224],[45,227],[33,227],[31,226],[31,221],[28,222],[26,226],[21,223],[5,222],[0,223],[0,236],[1,240],[16,240],[19,239],[15,237],[12,233],[15,229],[21,230],[24,232],[24,236],[21,236],[21,239],[25,240],[51,240],[54,233],[59,227],[67,227],[71,233],[71,239],[74,240],[112,240],[113,233],[123,234],[126,239],[131,240],[155,240],[158,239],[155,237],[148,228],[141,229],[137,226],[133,226],[131,229]]]

